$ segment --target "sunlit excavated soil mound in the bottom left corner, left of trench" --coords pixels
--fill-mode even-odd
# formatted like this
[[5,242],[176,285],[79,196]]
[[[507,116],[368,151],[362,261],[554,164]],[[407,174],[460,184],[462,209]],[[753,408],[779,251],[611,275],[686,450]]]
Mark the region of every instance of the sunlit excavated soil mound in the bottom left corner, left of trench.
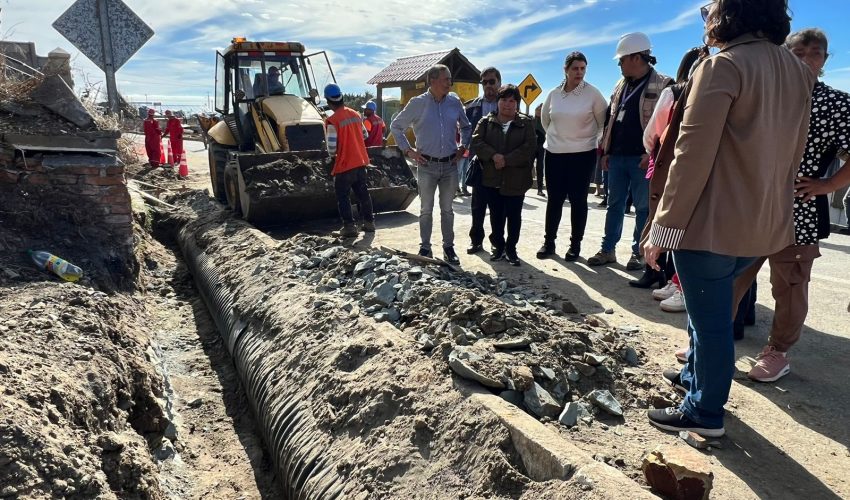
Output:
[[0,498],[165,498],[138,301],[0,261]]

